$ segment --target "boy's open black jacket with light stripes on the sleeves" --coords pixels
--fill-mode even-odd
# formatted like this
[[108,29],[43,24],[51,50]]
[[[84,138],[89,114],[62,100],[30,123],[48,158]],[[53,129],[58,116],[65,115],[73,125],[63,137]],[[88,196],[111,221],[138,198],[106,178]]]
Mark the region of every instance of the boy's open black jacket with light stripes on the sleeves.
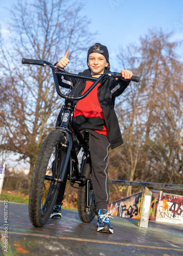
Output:
[[[83,73],[79,74],[91,76],[89,69],[84,70]],[[61,87],[69,89],[72,88],[71,94],[74,94],[75,96],[80,96],[82,94],[86,84],[85,80],[83,79],[78,79],[76,83],[74,79],[71,79],[66,75],[60,77],[58,82],[59,86]],[[112,149],[123,144],[120,126],[114,106],[116,97],[121,95],[128,85],[129,81],[122,81],[120,79],[116,80],[108,76],[101,81],[101,85],[98,88],[98,100],[104,113],[104,119],[107,126],[107,138]],[[57,124],[60,122],[59,119],[60,115],[58,116]],[[90,127],[90,130],[93,130],[92,127]]]

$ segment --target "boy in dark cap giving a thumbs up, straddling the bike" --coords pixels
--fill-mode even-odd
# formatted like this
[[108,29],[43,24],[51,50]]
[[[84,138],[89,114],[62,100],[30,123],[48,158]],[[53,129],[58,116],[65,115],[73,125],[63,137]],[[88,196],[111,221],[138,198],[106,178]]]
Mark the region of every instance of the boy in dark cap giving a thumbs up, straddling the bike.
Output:
[[[70,60],[68,53],[57,62],[56,66],[65,68]],[[99,77],[109,71],[109,54],[106,46],[99,43],[91,46],[87,53],[88,69],[83,73],[86,76]],[[122,70],[122,76],[130,79],[132,72]],[[73,81],[73,80],[72,80]],[[64,88],[73,88],[72,92],[77,96],[83,94],[93,84],[92,81],[80,80],[79,91],[76,89],[77,83],[72,83],[69,78],[61,77],[59,85]],[[107,211],[109,181],[108,181],[108,151],[123,144],[118,119],[114,110],[115,98],[123,93],[129,81],[122,81],[108,77],[99,83],[84,99],[79,100],[74,113],[74,120],[79,131],[89,132],[89,149],[92,166],[92,182],[95,202],[98,211],[97,231],[113,233],[113,228]],[[60,122],[60,115],[57,124]],[[64,195],[65,185],[60,187],[55,207],[50,218],[61,218],[61,205]]]

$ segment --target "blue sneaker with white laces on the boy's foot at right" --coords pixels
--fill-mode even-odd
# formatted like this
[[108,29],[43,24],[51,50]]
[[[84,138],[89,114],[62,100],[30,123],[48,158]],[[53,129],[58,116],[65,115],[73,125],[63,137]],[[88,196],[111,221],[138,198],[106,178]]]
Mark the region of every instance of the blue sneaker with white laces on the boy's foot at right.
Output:
[[[113,228],[109,219],[110,213],[105,209],[100,209],[98,212],[97,231],[113,234]],[[110,217],[112,218],[112,217]]]

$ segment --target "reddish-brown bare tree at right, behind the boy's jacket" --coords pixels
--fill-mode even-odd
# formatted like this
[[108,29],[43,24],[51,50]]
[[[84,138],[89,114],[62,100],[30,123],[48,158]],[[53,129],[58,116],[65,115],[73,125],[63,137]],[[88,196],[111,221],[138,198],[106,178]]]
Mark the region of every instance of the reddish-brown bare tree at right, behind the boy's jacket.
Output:
[[175,54],[178,42],[170,37],[151,30],[140,46],[119,54],[121,65],[141,77],[117,102],[125,141],[118,152],[120,179],[182,183],[183,69]]

